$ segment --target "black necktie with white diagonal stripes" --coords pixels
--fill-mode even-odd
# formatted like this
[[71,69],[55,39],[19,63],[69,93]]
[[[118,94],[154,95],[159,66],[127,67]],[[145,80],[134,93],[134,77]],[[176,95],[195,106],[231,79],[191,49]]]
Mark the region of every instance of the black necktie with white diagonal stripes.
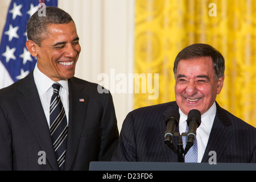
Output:
[[50,105],[50,134],[60,170],[64,169],[68,124],[63,104],[60,100],[60,84],[55,83]]

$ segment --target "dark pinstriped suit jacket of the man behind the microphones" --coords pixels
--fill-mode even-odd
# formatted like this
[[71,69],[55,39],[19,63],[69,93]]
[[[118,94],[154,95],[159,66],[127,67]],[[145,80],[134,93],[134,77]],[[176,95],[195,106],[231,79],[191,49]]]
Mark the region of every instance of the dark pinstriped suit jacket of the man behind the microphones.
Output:
[[[217,103],[216,117],[202,162],[216,151],[217,163],[255,163],[256,129],[222,109]],[[118,147],[112,161],[177,162],[177,155],[164,144],[165,118],[178,110],[176,102],[142,107],[131,111],[123,122]],[[179,132],[179,126],[175,132]],[[173,137],[177,148],[179,137]]]

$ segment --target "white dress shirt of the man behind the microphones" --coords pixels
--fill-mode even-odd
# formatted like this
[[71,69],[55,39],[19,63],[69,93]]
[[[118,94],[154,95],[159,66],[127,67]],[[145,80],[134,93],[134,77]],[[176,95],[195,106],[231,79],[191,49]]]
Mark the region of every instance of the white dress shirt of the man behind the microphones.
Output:
[[[187,115],[185,115],[180,109],[180,121],[179,132],[185,133],[187,128]],[[210,130],[212,130],[213,121],[216,115],[216,103],[210,107],[210,109],[201,115],[201,125],[196,130],[197,140],[197,163],[200,163],[204,156],[205,148],[207,147],[208,139],[210,136]]]

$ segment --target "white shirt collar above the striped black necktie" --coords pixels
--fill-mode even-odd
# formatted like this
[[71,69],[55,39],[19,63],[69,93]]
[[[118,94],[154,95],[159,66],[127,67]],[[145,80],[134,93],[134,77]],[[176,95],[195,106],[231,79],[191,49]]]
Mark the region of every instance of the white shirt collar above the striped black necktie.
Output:
[[[40,96],[42,96],[44,93],[47,92],[52,86],[52,84],[55,83],[55,81],[51,80],[51,78],[47,77],[38,69],[38,64],[36,63],[35,69],[34,69],[34,79],[36,87],[38,88],[38,93]],[[65,92],[68,93],[68,80],[60,80],[58,81],[61,85],[61,88],[64,88]]]

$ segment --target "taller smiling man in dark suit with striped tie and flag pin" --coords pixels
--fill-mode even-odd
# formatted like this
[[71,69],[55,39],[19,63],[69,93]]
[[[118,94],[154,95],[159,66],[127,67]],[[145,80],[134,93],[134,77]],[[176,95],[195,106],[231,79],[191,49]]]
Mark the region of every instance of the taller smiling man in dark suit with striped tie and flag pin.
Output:
[[27,36],[36,67],[0,90],[0,170],[88,170],[110,160],[118,142],[112,96],[74,77],[81,47],[71,16],[46,7],[28,20]]

